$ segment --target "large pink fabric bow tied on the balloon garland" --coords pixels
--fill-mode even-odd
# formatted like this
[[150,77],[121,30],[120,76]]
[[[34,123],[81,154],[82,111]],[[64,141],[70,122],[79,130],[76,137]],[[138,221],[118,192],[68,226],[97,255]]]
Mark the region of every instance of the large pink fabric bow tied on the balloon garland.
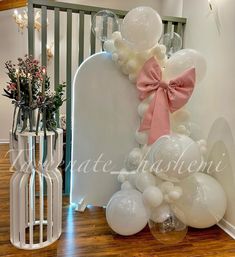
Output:
[[170,134],[169,111],[184,106],[192,95],[195,84],[195,68],[190,68],[169,83],[162,80],[161,67],[154,57],[145,62],[137,78],[140,100],[154,93],[144,114],[139,131],[149,130],[148,144]]

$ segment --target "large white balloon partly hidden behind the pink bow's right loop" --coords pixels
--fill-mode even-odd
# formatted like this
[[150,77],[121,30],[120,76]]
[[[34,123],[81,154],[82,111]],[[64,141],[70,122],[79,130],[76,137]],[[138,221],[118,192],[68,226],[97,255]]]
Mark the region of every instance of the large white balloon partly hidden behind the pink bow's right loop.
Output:
[[200,82],[206,74],[205,58],[194,49],[182,49],[166,62],[164,77],[172,79],[191,67],[195,67],[196,82]]

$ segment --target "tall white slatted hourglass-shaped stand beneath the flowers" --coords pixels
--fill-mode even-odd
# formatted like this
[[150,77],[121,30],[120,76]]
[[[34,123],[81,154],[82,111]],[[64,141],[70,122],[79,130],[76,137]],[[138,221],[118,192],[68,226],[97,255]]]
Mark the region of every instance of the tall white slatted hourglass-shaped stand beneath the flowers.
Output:
[[46,141],[43,132],[17,133],[17,140],[10,133],[10,240],[20,249],[46,247],[61,235],[63,131],[57,132],[56,144],[50,131]]

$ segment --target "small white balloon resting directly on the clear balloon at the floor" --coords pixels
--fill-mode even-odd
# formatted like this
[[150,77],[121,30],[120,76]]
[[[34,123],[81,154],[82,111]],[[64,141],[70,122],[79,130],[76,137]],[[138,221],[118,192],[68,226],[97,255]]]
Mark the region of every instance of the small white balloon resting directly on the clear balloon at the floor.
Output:
[[160,206],[152,209],[150,219],[156,223],[162,223],[170,216],[170,206],[167,203],[162,203]]

